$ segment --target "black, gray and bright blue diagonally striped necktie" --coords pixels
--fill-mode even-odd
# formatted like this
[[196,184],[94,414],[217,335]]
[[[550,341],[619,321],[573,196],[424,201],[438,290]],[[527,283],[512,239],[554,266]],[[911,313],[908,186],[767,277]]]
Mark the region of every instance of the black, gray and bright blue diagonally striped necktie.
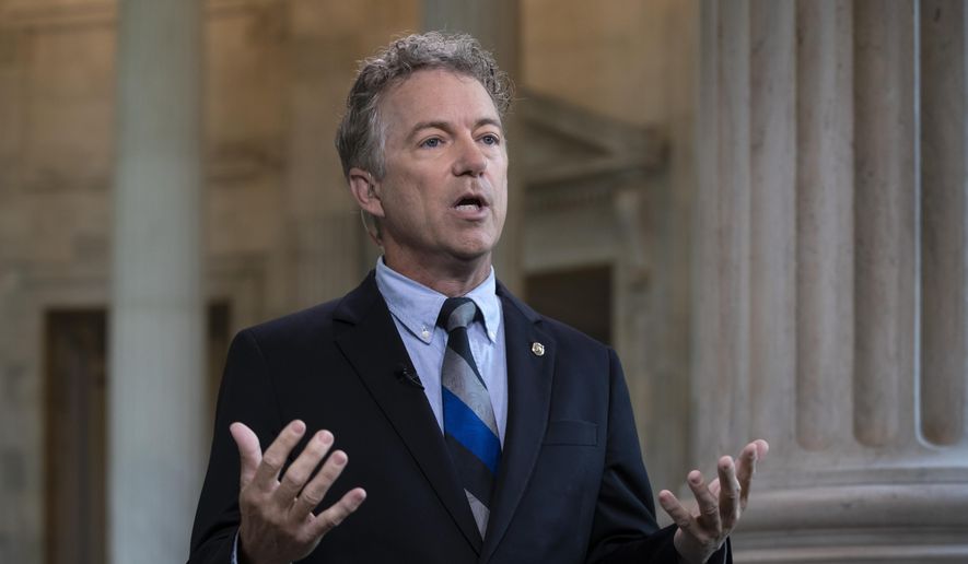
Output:
[[470,354],[467,339],[467,326],[475,315],[477,306],[469,297],[451,297],[441,307],[438,325],[447,330],[447,349],[441,369],[444,439],[483,538],[490,515],[488,505],[501,460],[501,440],[491,397]]

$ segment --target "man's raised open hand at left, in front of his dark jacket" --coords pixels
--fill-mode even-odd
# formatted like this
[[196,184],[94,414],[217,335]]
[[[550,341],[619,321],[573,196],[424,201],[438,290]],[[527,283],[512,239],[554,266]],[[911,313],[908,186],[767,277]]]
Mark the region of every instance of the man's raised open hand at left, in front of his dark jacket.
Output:
[[289,453],[306,432],[302,421],[293,421],[266,449],[242,423],[229,427],[242,461],[238,507],[238,561],[243,564],[290,563],[307,556],[330,529],[363,503],[366,492],[355,487],[319,515],[313,509],[326,495],[347,465],[347,455],[336,450],[323,469],[310,480],[313,469],[333,447],[333,433],[319,431],[290,465],[282,479],[279,472]]

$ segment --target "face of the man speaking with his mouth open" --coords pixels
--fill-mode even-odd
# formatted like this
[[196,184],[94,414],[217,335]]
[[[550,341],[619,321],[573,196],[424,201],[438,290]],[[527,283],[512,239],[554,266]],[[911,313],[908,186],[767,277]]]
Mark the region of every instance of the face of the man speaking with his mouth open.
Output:
[[[380,105],[386,174],[370,210],[387,263],[440,272],[490,267],[508,210],[508,152],[494,104],[475,79],[422,70]],[[400,270],[403,271],[403,270]]]

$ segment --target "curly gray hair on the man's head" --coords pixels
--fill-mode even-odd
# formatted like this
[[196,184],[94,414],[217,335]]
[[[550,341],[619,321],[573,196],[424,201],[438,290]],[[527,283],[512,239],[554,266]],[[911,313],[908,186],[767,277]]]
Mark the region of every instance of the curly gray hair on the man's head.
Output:
[[508,74],[474,37],[428,32],[399,38],[362,62],[347,96],[346,114],[336,133],[336,150],[348,178],[353,167],[377,179],[386,174],[383,158],[386,131],[380,120],[380,101],[390,87],[423,69],[444,69],[476,79],[502,119],[511,107],[512,85]]

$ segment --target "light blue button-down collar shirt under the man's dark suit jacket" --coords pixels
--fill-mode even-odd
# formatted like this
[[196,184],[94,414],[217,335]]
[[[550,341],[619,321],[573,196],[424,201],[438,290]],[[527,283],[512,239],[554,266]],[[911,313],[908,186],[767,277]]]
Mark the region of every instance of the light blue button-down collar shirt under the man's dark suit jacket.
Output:
[[[436,319],[447,296],[396,272],[386,266],[382,257],[376,261],[376,287],[386,301],[417,376],[423,384],[430,409],[443,431],[441,367],[447,346],[447,331],[436,326]],[[503,445],[508,425],[508,362],[504,324],[501,322],[503,312],[497,287],[494,269],[491,268],[487,280],[465,297],[473,299],[481,313],[467,327],[467,337],[474,362],[491,396],[498,434]]]

